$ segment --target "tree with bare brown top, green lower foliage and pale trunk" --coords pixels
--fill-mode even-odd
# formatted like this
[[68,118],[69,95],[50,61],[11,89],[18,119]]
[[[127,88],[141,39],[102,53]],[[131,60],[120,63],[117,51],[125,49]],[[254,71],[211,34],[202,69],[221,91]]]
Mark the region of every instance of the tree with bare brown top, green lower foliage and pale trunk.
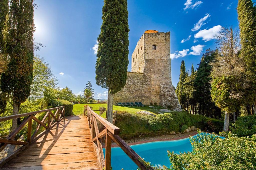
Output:
[[222,111],[225,111],[224,131],[228,131],[229,114],[241,105],[244,96],[244,63],[240,58],[239,36],[233,28],[222,28],[217,36],[218,53],[211,63],[211,97]]

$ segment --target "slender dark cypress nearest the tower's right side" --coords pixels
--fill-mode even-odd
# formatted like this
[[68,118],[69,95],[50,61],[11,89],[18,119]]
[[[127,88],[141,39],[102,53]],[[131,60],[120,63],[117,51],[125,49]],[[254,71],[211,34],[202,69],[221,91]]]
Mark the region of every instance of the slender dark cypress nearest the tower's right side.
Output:
[[183,88],[184,88],[183,83],[184,83],[185,78],[186,78],[185,61],[182,60],[181,64],[180,64],[179,82],[178,82],[176,90],[175,90],[182,108],[185,108],[185,103],[186,103],[186,96],[183,93]]

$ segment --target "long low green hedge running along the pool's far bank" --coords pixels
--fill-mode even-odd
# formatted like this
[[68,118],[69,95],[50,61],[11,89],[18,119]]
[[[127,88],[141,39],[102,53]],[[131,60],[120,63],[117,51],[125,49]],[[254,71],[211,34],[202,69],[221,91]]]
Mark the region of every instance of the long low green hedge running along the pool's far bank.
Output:
[[202,115],[191,115],[184,111],[158,114],[156,117],[119,111],[116,116],[116,126],[121,129],[119,135],[123,139],[166,135],[173,131],[183,133],[191,126],[216,133],[223,131],[223,121]]

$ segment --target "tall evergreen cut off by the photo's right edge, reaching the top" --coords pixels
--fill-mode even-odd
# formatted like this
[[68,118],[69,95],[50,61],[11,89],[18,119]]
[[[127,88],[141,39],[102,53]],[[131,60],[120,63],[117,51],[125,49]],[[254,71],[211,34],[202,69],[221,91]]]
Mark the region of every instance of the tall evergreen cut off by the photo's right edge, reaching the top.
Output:
[[250,81],[247,88],[249,104],[254,102],[256,113],[256,7],[251,0],[239,0],[237,13],[241,38],[241,57],[246,63],[246,75]]

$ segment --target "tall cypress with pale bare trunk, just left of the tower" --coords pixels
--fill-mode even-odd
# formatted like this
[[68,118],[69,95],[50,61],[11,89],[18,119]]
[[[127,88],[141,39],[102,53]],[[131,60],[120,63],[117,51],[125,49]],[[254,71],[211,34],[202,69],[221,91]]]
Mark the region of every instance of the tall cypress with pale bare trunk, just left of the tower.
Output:
[[128,69],[127,0],[104,0],[98,37],[96,84],[108,88],[108,121],[112,123],[113,94],[124,87]]

